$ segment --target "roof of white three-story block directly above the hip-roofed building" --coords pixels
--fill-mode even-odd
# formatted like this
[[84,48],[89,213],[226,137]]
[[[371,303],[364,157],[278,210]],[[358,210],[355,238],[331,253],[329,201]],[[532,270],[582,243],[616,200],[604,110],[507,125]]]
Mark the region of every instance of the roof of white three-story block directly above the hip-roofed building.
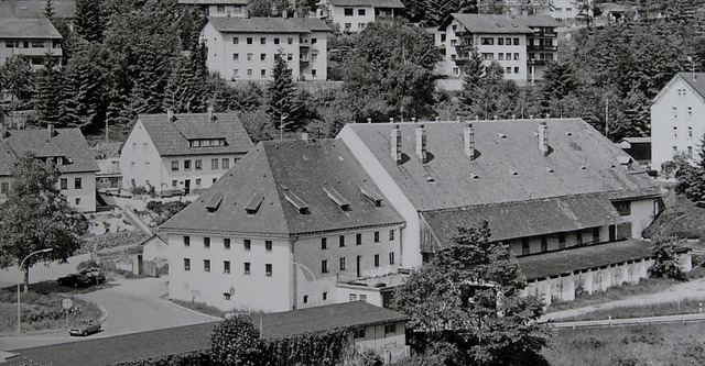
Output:
[[210,16],[208,22],[221,33],[308,33],[299,22],[282,18]]

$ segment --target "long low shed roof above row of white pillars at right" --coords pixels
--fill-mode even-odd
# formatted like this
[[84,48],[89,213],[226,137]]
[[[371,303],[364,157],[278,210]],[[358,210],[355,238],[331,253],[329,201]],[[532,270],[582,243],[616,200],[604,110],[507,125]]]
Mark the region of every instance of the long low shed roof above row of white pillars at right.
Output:
[[[551,276],[568,275],[584,269],[599,268],[627,260],[650,258],[651,242],[627,240],[583,247],[568,247],[557,252],[540,253],[518,257],[519,266],[527,279],[542,279]],[[688,248],[681,247],[679,253]]]

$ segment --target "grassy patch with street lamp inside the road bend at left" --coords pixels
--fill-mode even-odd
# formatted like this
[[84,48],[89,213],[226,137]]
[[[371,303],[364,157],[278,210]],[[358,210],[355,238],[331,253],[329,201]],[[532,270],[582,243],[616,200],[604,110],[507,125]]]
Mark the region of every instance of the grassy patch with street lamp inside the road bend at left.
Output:
[[[106,285],[101,285],[106,286]],[[93,291],[96,287],[73,289],[61,287],[56,281],[32,284],[28,292],[20,296],[22,331],[56,330],[66,328],[66,312],[62,300],[72,299],[73,308],[68,312],[69,324],[78,319],[100,318],[102,312],[94,303],[74,297],[79,292]],[[14,332],[18,326],[17,287],[0,289],[0,333]]]

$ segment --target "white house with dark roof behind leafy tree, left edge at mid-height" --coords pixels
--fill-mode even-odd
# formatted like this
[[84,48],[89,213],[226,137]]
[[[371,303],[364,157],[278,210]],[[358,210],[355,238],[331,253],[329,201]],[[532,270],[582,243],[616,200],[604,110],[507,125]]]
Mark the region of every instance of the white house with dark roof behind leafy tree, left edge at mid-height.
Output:
[[2,131],[0,154],[0,198],[4,199],[12,181],[12,167],[18,157],[33,153],[53,162],[61,171],[58,188],[68,204],[80,212],[96,211],[96,171],[98,164],[78,129]]

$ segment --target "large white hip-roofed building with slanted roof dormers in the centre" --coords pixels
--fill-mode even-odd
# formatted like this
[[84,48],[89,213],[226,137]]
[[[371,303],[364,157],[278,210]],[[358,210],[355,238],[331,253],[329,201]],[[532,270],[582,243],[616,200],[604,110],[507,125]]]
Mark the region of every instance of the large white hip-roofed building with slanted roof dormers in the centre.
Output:
[[267,312],[349,301],[338,282],[395,273],[404,255],[379,191],[341,141],[258,144],[161,226],[170,298]]

